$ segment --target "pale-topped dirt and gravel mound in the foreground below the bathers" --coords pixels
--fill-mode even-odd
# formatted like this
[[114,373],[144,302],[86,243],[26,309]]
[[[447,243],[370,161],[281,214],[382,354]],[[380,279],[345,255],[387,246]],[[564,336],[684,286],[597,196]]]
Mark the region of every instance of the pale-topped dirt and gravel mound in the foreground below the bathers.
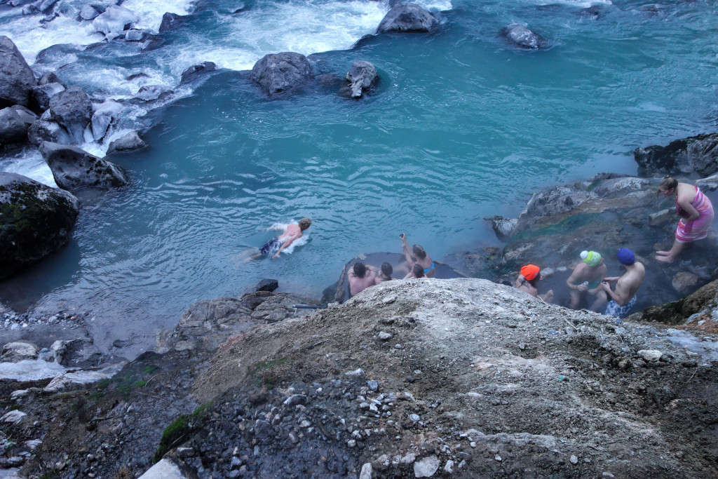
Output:
[[[463,477],[715,472],[713,368],[658,327],[484,280],[384,283],[256,330],[212,362],[197,399],[224,393],[215,404],[241,418],[197,436],[199,448],[218,436],[235,445],[201,461],[218,472],[342,475],[367,463],[386,477],[424,477],[425,467]],[[284,402],[293,395],[299,411]]]

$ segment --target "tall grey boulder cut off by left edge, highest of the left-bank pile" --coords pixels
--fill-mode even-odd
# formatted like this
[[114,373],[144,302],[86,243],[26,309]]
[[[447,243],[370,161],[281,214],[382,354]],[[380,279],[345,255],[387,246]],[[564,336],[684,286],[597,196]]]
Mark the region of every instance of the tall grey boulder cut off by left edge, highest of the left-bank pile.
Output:
[[35,77],[17,47],[8,37],[0,36],[0,108],[28,106]]

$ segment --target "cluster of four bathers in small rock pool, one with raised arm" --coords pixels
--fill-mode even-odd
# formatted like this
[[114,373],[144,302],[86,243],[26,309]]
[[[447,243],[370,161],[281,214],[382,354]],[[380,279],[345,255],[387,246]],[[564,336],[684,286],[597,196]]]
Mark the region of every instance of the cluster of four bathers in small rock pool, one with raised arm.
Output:
[[[426,254],[421,245],[409,246],[409,241],[406,241],[404,233],[399,235],[399,239],[401,239],[401,251],[406,258],[406,264],[401,264],[396,268],[399,276],[403,274],[404,279],[431,278],[437,274],[434,261],[432,261],[431,256]],[[394,279],[391,276],[394,272],[393,266],[386,262],[382,263],[379,269],[376,266],[367,266],[360,262],[353,264],[347,273],[350,296],[354,296],[375,284]]]

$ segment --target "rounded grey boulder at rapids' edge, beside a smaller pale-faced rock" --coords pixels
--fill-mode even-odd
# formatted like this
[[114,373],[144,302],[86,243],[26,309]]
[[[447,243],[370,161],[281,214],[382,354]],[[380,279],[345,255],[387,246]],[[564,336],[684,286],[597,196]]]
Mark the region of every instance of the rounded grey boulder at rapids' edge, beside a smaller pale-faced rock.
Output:
[[264,55],[252,68],[252,80],[269,96],[291,90],[312,76],[307,57],[295,52]]

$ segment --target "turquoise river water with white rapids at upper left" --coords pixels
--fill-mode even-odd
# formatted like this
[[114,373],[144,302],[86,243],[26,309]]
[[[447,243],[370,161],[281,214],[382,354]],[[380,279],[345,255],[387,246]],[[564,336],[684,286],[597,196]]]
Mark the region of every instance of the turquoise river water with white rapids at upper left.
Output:
[[[144,5],[159,12],[145,16],[156,30],[169,7]],[[107,343],[150,338],[187,304],[263,277],[319,297],[356,254],[399,251],[401,231],[434,259],[495,243],[482,218],[516,216],[531,192],[597,172],[633,174],[635,147],[715,131],[714,5],[602,3],[597,21],[579,17],[589,5],[453,1],[436,34],[345,50],[376,29],[386,4],[258,2],[198,14],[157,51],[121,44],[100,49],[114,55],[100,59],[73,47],[78,63],[62,56],[70,63],[60,71],[98,96],[140,86],[106,80],[114,76],[147,71],[152,83],[176,84],[195,62],[240,70],[287,50],[320,52],[316,73],[340,76],[368,60],[381,83],[361,101],[321,83],[267,101],[246,75],[215,75],[167,107],[145,135],[148,150],[113,159],[132,185],[88,202],[70,245],[3,284],[4,296],[16,307],[90,310]],[[302,16],[308,25],[295,22]],[[512,22],[551,48],[508,49],[498,32]],[[6,34],[27,57],[39,51],[32,33]],[[48,69],[60,66],[52,58]],[[93,68],[106,76],[88,75]],[[33,154],[0,167],[51,182]],[[314,225],[292,254],[233,261],[270,237],[258,228],[304,215]]]

